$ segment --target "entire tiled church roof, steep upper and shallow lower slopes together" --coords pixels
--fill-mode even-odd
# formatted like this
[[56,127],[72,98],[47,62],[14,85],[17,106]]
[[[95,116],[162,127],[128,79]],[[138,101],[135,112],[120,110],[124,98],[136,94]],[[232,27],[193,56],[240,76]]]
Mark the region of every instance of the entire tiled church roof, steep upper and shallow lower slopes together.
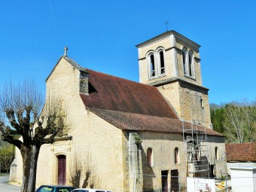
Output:
[[[163,98],[157,87],[139,84],[90,69],[84,69],[68,57],[76,69],[88,72],[89,95],[80,94],[84,105],[121,130],[182,133],[182,122]],[[184,123],[184,127],[191,127]],[[199,130],[205,127],[198,126]],[[207,134],[222,136],[207,129]]]

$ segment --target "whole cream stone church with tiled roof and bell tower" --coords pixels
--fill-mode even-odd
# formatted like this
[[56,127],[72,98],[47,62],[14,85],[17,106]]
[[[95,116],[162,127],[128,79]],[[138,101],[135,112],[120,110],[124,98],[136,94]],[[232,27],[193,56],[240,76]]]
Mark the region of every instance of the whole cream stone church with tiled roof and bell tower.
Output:
[[[60,57],[47,93],[62,100],[71,127],[42,146],[38,185],[167,192],[186,187],[187,177],[226,174],[224,136],[212,130],[202,84],[200,45],[167,31],[136,47],[139,83]],[[17,151],[11,181],[22,181],[22,169]]]

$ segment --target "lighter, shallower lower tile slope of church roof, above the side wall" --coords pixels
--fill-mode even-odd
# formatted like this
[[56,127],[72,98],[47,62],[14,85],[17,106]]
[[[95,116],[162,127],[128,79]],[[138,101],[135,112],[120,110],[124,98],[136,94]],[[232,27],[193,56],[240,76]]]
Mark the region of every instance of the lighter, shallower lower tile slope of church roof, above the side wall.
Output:
[[[183,133],[181,120],[168,117],[157,117],[147,114],[135,114],[123,111],[112,111],[102,108],[87,108],[97,116],[108,121],[121,130],[151,131],[163,133]],[[191,123],[184,122],[184,129],[191,129]],[[197,126],[200,131],[206,130],[209,136],[222,136],[220,133]]]

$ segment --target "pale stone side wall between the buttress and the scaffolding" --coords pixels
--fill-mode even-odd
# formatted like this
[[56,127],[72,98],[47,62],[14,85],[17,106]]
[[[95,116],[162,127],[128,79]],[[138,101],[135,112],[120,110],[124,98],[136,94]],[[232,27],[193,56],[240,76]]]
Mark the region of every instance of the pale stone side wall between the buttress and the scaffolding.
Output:
[[[138,133],[142,139],[142,167],[143,174],[154,175],[154,179],[146,179],[145,186],[151,185],[154,190],[161,189],[161,171],[178,169],[181,177],[181,185],[185,185],[187,166],[186,151],[184,148],[183,137],[181,134],[170,133]],[[153,153],[153,165],[147,165],[147,149],[151,148]],[[179,163],[175,164],[175,148],[179,151]],[[170,187],[170,186],[169,186]]]

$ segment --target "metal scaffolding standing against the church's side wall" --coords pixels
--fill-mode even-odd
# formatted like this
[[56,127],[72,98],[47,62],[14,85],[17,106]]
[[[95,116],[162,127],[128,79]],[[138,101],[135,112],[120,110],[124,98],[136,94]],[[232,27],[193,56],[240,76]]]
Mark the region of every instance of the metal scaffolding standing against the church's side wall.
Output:
[[207,146],[206,127],[200,128],[197,120],[191,120],[190,127],[183,128],[183,141],[187,155],[187,176],[208,177],[210,174],[209,152]]

